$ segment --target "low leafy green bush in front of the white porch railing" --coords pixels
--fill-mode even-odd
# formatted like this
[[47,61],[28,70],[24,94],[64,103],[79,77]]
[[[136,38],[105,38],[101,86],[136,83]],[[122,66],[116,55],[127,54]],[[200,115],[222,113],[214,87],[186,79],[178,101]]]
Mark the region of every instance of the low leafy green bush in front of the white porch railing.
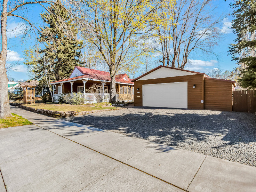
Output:
[[62,94],[58,98],[59,103],[66,103],[70,105],[82,105],[84,104],[84,94],[81,92]]

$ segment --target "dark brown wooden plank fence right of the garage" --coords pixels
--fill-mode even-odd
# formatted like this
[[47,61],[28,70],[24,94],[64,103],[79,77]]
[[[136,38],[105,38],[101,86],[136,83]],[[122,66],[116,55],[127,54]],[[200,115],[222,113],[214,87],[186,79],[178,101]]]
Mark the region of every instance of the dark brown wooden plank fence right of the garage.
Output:
[[256,90],[233,91],[233,111],[256,112]]

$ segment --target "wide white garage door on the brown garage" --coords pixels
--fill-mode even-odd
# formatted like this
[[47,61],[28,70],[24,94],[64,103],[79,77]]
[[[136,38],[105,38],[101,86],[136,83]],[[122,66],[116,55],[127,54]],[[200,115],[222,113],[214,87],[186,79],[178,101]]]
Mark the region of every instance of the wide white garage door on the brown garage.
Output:
[[142,85],[143,106],[188,108],[188,82]]

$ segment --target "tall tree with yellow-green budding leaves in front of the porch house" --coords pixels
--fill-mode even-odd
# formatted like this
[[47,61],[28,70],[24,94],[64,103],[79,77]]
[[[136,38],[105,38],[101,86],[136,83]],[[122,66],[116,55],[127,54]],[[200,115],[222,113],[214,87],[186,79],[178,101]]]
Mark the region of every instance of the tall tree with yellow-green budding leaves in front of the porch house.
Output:
[[[156,20],[164,0],[81,0],[69,5],[80,18],[88,42],[100,52],[110,73],[110,101],[116,97],[116,73],[122,63],[131,63],[143,54],[138,43]],[[169,3],[172,1],[168,1]],[[128,55],[133,55],[128,58]],[[126,60],[124,62],[124,60]]]

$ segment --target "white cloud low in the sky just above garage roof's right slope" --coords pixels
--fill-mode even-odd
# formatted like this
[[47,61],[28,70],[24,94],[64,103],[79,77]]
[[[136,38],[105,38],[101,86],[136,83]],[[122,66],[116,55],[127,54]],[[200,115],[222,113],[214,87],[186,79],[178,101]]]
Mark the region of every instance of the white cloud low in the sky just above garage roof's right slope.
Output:
[[203,61],[203,60],[189,59],[188,64],[185,66],[185,69],[191,70],[191,71],[197,71],[197,72],[208,71],[209,70],[208,67],[211,68],[217,63],[218,61],[216,60]]

